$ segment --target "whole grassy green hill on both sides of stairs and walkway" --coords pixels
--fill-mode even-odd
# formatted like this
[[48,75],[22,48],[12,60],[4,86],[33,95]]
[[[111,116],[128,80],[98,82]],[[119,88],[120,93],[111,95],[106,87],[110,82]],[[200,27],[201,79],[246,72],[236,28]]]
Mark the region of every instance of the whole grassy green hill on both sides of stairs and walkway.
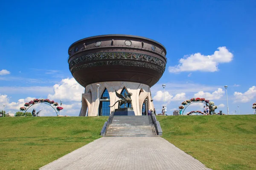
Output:
[[[108,117],[0,118],[0,170],[34,170],[100,138]],[[163,138],[213,170],[256,169],[256,115],[157,116]]]

